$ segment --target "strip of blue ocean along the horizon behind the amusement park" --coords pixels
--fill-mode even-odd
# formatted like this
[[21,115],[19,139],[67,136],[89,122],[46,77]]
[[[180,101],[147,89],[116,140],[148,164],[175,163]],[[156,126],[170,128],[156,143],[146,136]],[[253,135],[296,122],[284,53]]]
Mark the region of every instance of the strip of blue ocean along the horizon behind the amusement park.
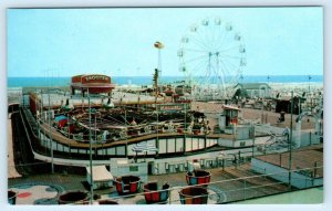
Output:
[[[310,82],[323,83],[323,75],[310,75]],[[184,81],[184,76],[162,76],[160,84]],[[8,77],[7,87],[69,86],[71,77]],[[153,76],[113,76],[112,83],[124,85],[152,85]],[[239,83],[309,83],[308,75],[245,75]]]

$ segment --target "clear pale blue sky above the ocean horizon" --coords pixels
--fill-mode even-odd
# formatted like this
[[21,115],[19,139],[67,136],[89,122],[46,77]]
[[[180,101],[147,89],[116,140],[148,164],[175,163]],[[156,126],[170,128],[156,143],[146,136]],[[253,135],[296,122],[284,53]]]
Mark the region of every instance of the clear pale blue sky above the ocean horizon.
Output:
[[[163,75],[181,76],[179,67],[191,65],[191,60],[183,64],[178,57],[181,39],[196,39],[190,29],[201,27],[206,19],[231,23],[234,32],[241,35],[246,65],[238,66],[239,61],[228,65],[229,74],[239,68],[243,75],[323,74],[321,7],[104,8],[8,9],[8,76],[151,76],[159,64]],[[220,40],[224,33],[225,28]],[[215,46],[218,38],[200,39]],[[222,40],[221,45],[235,42],[232,38]],[[156,41],[165,48],[154,48]],[[199,43],[195,48],[199,49]],[[196,55],[195,51],[184,53]],[[193,72],[204,75],[207,67]]]

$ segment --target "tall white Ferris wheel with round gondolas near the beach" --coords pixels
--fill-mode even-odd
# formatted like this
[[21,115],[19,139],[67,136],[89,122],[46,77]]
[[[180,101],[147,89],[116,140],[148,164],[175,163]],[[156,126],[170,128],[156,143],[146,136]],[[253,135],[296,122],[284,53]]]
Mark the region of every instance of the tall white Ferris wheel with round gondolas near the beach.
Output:
[[246,45],[230,22],[207,18],[193,24],[180,40],[179,71],[198,89],[214,86],[220,96],[235,85],[246,66]]

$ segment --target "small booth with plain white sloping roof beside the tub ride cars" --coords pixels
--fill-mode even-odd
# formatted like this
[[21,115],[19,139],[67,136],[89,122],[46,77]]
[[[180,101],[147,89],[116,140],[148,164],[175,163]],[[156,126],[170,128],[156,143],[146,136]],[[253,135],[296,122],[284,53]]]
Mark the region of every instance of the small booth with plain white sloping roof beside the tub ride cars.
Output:
[[106,169],[105,166],[92,167],[92,180],[90,167],[86,167],[86,180],[93,186],[93,189],[110,188],[113,187],[113,175]]

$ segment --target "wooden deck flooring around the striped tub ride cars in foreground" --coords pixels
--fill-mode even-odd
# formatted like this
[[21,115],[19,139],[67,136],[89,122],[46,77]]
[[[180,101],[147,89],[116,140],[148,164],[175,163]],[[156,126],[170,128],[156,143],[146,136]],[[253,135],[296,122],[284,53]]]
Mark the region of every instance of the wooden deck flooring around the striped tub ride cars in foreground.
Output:
[[[211,172],[211,183],[208,186],[209,192],[212,193],[209,197],[210,203],[229,203],[232,201],[264,197],[268,194],[276,194],[288,191],[288,187],[278,183],[272,179],[264,178],[255,173],[250,170],[250,163],[245,163],[238,167],[227,167],[225,170],[222,168],[206,169]],[[252,179],[243,179],[246,177],[256,176]],[[241,178],[241,179],[238,179]],[[168,182],[173,189],[173,199],[170,199],[172,204],[179,203],[177,192],[181,187],[187,186],[185,179],[185,172],[176,172],[160,176],[148,176],[149,181],[158,181],[159,183]],[[34,175],[27,178],[9,179],[9,187],[11,189],[18,188],[20,186],[27,187],[27,184],[34,184],[34,189],[44,190],[45,186],[58,187],[59,192],[68,190],[86,190],[86,177],[83,175],[65,175],[65,173],[54,173],[54,175]],[[14,189],[19,190],[20,189]],[[27,189],[24,189],[27,191]],[[131,198],[118,198],[115,188],[95,190],[95,194],[102,199],[115,198],[120,203],[125,204],[142,204],[145,203],[143,192],[137,194],[137,197]],[[23,204],[34,204],[39,202],[38,199],[39,191],[34,191],[31,200],[24,198],[22,200],[18,199],[17,203]],[[40,196],[43,198],[44,196]],[[56,197],[55,197],[56,198]],[[56,199],[53,199],[53,203],[56,203]],[[50,201],[49,201],[50,202]],[[169,201],[168,201],[169,203]]]

